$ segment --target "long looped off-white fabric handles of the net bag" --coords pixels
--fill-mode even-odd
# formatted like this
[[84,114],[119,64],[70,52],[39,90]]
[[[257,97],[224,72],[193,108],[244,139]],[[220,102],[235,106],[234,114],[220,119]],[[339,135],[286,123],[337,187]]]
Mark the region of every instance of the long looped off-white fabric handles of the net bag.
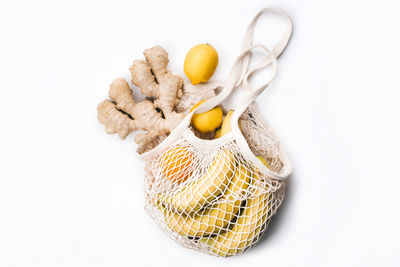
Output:
[[[269,50],[266,46],[264,45],[254,45],[253,46],[253,36],[254,36],[254,30],[257,25],[258,19],[263,15],[264,13],[267,12],[272,12],[272,13],[277,13],[279,15],[282,15],[284,18],[287,19],[288,21],[288,27],[286,31],[284,32],[281,40],[273,47],[272,50]],[[200,105],[197,109],[193,111],[193,114],[196,113],[202,113],[206,112],[207,110],[210,110],[211,108],[215,107],[216,105],[220,104],[222,101],[224,101],[226,98],[228,98],[233,89],[239,87],[240,85],[243,84],[245,92],[245,97],[244,101],[239,104],[238,108],[243,109],[243,111],[254,101],[254,99],[261,94],[269,85],[271,80],[273,79],[275,72],[276,72],[276,58],[281,55],[285,47],[287,46],[291,33],[293,29],[293,22],[289,15],[283,11],[282,9],[279,8],[274,8],[274,7],[267,7],[262,10],[260,10],[252,19],[250,22],[249,26],[247,27],[247,30],[245,32],[243,42],[242,42],[242,52],[240,55],[235,59],[231,71],[229,73],[228,79],[225,82],[224,89],[215,97],[209,99],[202,105]],[[251,58],[251,51],[256,49],[256,48],[262,48],[264,49],[265,52],[267,52],[268,56],[259,64],[248,70],[248,65],[250,62]],[[248,84],[248,79],[250,76],[263,68],[266,68],[270,64],[273,64],[273,73],[272,77],[270,80],[268,80],[264,85],[260,86],[256,90],[251,90],[249,84]],[[239,69],[238,69],[239,68]],[[238,70],[239,73],[238,73]],[[252,92],[251,92],[252,91]],[[240,111],[236,109],[237,111]],[[242,112],[235,112],[236,115],[235,117],[239,117]],[[233,119],[233,117],[232,117]]]

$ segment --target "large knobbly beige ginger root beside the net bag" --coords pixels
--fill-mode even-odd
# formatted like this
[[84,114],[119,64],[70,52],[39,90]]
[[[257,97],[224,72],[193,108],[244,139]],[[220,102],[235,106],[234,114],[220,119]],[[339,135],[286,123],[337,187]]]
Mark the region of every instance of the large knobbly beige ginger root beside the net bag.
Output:
[[[146,61],[135,60],[130,71],[132,83],[146,98],[136,102],[129,84],[119,78],[110,85],[110,100],[104,100],[97,107],[97,118],[107,133],[117,133],[125,139],[136,130],[145,131],[135,136],[139,154],[161,143],[185,117],[193,102],[203,94],[206,96],[203,99],[213,96],[213,89],[217,87],[204,84],[196,90],[187,83],[184,86],[183,79],[167,69],[168,53],[160,46],[146,49],[143,54]],[[188,89],[185,93],[184,87]]]

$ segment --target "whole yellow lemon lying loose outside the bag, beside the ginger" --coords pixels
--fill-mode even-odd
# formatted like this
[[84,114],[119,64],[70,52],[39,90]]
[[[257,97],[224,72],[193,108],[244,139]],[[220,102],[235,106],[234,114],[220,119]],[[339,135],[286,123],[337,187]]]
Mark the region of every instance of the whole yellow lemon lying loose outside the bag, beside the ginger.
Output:
[[186,54],[183,70],[192,84],[207,82],[218,65],[218,53],[209,44],[193,46]]

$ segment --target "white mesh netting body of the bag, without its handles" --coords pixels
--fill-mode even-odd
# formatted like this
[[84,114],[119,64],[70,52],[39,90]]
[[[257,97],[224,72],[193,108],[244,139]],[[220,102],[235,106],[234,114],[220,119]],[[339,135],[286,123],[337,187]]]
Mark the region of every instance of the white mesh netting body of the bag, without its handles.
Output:
[[[283,173],[289,167],[279,141],[250,110],[240,117],[243,136],[269,170]],[[146,160],[145,209],[184,247],[241,254],[260,240],[284,197],[285,182],[261,171],[254,158],[242,153],[234,137],[215,145],[187,128],[172,146]]]

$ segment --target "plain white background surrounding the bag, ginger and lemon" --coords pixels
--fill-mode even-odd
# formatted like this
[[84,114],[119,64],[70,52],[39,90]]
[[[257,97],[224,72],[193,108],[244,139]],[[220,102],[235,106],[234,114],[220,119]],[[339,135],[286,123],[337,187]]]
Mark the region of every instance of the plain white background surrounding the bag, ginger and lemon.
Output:
[[[223,80],[252,16],[294,20],[258,102],[293,161],[266,238],[229,259],[181,248],[143,210],[133,137],[96,106],[142,51],[184,76],[210,43]],[[2,1],[0,266],[399,266],[400,6],[396,1]],[[264,17],[256,39],[277,40]],[[275,29],[275,30],[274,30]]]

